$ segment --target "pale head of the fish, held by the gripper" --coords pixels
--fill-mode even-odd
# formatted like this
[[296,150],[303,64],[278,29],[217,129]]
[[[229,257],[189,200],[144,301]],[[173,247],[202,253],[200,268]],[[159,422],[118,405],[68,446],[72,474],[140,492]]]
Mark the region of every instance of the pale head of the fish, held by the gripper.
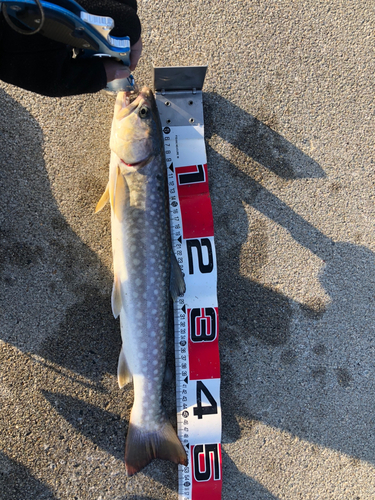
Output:
[[160,120],[152,91],[119,92],[112,122],[111,150],[129,166],[142,166],[160,152]]

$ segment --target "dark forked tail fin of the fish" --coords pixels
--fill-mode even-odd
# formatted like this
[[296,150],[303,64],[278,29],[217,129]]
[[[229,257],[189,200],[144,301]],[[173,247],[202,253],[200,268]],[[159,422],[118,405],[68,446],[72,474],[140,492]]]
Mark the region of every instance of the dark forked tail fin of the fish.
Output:
[[187,465],[186,452],[170,422],[154,432],[145,432],[131,420],[125,448],[125,467],[128,476],[139,472],[154,458]]

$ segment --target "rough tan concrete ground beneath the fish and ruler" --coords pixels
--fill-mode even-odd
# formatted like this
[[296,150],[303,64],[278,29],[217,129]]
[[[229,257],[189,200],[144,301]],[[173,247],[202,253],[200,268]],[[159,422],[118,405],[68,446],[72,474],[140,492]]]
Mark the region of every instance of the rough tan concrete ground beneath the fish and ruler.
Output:
[[[370,4],[139,1],[139,84],[209,65],[224,500],[375,498]],[[173,464],[123,464],[113,103],[0,86],[1,500],[177,499]]]

